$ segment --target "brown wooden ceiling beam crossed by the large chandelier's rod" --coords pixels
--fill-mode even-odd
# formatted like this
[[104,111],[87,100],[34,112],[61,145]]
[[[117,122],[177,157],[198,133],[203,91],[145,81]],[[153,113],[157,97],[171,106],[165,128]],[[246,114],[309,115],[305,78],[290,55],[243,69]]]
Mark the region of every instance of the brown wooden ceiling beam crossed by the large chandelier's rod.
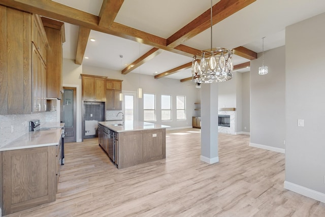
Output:
[[[256,0],[220,0],[212,7],[212,24],[216,24],[221,20],[229,17],[237,11],[245,8]],[[202,33],[211,27],[210,9],[189,22],[187,25],[179,29],[175,34],[167,39],[167,46],[176,47],[184,41]]]

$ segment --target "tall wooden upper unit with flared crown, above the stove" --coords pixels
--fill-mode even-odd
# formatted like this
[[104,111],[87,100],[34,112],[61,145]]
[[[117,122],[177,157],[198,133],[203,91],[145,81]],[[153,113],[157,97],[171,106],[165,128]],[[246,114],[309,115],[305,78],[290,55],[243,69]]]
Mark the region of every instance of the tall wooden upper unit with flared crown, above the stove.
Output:
[[66,41],[64,23],[42,17],[49,48],[47,49],[47,98],[61,98],[62,44]]

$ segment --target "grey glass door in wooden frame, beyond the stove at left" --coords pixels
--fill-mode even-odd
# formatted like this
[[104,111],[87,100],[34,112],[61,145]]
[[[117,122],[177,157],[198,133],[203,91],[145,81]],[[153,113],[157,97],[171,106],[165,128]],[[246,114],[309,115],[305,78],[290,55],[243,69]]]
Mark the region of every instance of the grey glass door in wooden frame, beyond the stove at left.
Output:
[[76,87],[63,87],[63,109],[61,114],[61,122],[64,122],[64,142],[76,142],[76,113],[77,113],[77,98]]

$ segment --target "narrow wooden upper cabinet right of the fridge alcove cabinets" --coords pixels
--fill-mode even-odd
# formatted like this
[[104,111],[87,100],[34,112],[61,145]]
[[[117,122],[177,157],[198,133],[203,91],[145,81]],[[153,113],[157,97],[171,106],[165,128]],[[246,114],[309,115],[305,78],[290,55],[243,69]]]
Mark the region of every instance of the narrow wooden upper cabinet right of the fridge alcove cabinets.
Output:
[[122,80],[106,79],[106,110],[122,110]]

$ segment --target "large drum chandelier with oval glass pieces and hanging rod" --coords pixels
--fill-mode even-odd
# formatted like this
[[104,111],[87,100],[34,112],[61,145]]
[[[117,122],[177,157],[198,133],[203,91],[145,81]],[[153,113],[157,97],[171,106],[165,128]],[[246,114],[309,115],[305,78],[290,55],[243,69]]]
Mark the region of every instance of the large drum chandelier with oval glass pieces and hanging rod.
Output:
[[193,56],[192,81],[196,83],[214,83],[232,79],[234,69],[232,51],[226,48],[212,48],[212,0],[211,16],[211,46]]

